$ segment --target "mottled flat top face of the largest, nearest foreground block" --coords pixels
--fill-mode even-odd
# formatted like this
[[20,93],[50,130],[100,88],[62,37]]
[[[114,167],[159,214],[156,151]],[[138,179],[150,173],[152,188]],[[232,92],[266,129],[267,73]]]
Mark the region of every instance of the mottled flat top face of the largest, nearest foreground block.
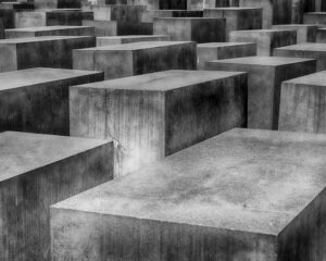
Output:
[[277,235],[326,184],[326,135],[233,129],[54,208]]

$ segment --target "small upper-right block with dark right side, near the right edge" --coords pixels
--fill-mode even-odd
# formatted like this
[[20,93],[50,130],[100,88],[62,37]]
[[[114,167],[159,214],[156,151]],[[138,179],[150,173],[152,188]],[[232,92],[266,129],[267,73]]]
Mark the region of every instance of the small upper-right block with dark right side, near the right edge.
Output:
[[274,25],[273,29],[294,29],[297,30],[297,44],[302,44],[316,41],[318,26],[304,24],[288,24]]

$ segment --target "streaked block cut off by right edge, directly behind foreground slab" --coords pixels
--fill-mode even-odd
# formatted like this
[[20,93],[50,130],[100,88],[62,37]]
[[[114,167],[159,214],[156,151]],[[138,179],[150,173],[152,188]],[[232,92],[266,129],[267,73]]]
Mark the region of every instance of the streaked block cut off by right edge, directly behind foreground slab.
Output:
[[326,133],[326,71],[284,82],[279,129]]

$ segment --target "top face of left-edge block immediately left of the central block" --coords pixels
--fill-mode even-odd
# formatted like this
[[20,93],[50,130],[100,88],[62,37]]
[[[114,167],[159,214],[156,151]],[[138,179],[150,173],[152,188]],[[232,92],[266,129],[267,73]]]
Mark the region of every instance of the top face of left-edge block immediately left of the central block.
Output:
[[93,71],[36,67],[0,73],[0,91],[78,76],[98,74]]

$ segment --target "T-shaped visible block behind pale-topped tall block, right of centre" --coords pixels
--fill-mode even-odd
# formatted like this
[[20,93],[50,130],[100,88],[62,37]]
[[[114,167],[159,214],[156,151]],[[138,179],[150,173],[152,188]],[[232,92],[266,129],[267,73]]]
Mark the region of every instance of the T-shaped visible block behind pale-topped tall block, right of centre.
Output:
[[262,57],[273,55],[273,49],[297,44],[297,30],[256,29],[234,30],[229,34],[229,41],[255,42],[256,53]]

